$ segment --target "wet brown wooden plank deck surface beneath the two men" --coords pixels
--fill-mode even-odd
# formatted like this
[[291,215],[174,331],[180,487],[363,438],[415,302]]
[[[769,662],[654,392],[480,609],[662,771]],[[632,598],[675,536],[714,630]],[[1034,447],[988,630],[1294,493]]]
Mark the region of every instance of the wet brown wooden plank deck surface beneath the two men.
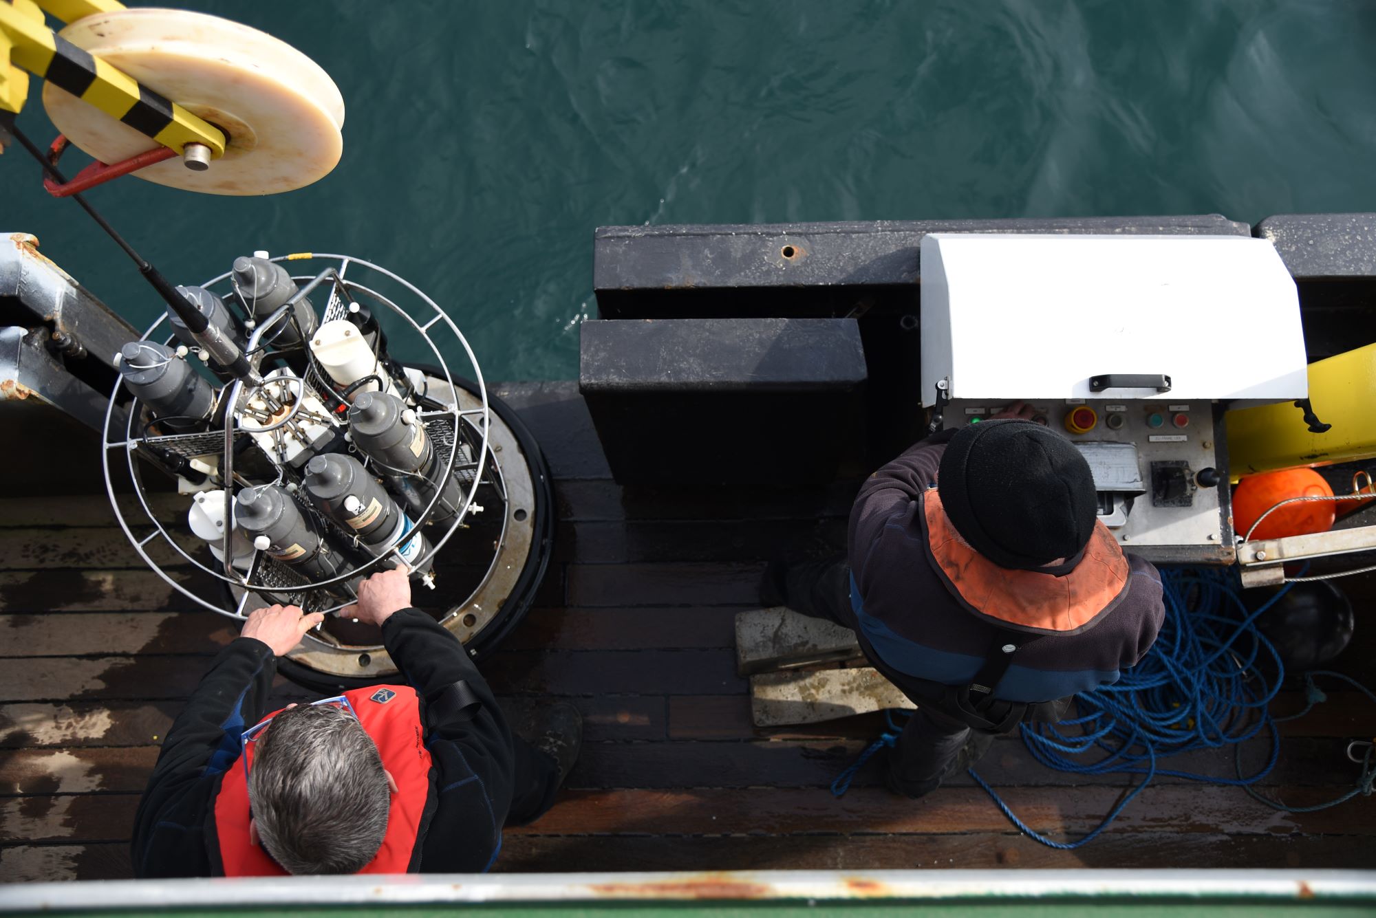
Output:
[[[815,495],[622,493],[574,383],[499,390],[557,478],[559,548],[534,609],[483,669],[517,719],[550,697],[586,717],[559,804],[508,830],[497,870],[903,867],[1372,867],[1376,800],[1291,815],[1240,789],[1159,778],[1101,838],[1057,851],[1020,836],[967,776],[921,803],[872,768],[827,785],[875,717],[755,731],[733,616],[764,559],[812,529],[843,537],[846,488]],[[0,878],[129,875],[129,825],[158,741],[233,623],[146,570],[103,496],[0,500]],[[1348,581],[1358,638],[1333,668],[1373,679],[1376,581]],[[279,679],[282,699],[305,693]],[[1299,693],[1282,699],[1288,709]],[[1343,754],[1376,705],[1333,693],[1285,726],[1266,793],[1293,805],[1351,787]],[[1251,750],[1259,761],[1265,750]],[[1181,767],[1233,774],[1232,753]],[[1049,771],[1014,738],[981,774],[1035,829],[1077,837],[1127,781]]]

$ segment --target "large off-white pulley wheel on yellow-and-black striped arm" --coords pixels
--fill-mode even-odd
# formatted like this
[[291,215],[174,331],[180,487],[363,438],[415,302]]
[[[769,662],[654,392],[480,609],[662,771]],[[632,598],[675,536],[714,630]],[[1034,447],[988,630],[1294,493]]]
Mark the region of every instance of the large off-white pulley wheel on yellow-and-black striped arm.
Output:
[[[226,195],[292,191],[329,175],[344,151],[344,98],[329,74],[270,34],[183,10],[121,10],[61,32],[140,84],[228,135],[205,172],[180,158],[131,175],[173,188]],[[51,82],[43,107],[73,144],[118,162],[157,144]]]

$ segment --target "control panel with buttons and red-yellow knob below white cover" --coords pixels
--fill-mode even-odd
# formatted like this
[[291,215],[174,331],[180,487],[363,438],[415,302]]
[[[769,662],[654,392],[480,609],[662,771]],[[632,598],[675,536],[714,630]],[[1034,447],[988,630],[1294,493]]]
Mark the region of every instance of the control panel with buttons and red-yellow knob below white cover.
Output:
[[[1009,403],[952,400],[943,427],[981,423]],[[1094,474],[1099,519],[1152,561],[1229,561],[1227,480],[1208,400],[1024,400],[1033,421],[1073,443]],[[1222,486],[1221,486],[1222,485]]]

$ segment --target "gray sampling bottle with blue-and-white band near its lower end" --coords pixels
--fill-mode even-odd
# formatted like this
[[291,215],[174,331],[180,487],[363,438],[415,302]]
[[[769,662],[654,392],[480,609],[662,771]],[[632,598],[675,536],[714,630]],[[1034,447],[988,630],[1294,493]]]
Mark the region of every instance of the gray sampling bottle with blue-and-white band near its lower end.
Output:
[[[314,456],[305,463],[305,493],[326,517],[345,532],[352,532],[374,555],[391,554],[388,546],[414,529],[414,524],[392,496],[369,474],[354,456],[332,452]],[[425,535],[417,532],[396,546],[396,552],[416,576],[429,573],[431,565],[416,562],[429,552]],[[392,555],[392,565],[395,555]],[[428,579],[427,579],[428,583]]]

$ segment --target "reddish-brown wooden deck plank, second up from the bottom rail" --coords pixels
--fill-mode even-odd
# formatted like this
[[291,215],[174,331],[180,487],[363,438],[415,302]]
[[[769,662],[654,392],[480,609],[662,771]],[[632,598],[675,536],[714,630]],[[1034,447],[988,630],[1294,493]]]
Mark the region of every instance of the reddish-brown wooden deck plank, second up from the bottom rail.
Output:
[[[1326,792],[1280,789],[1292,805],[1328,800]],[[1121,792],[1084,789],[1049,800],[1036,789],[1004,794],[1033,830],[1075,838],[1093,830]],[[122,841],[138,809],[138,793],[10,797],[0,801],[0,844]],[[1287,814],[1265,807],[1238,808],[1225,787],[1149,787],[1115,823],[1115,833],[1240,836],[1350,834],[1372,844],[1376,801],[1354,803],[1346,812],[1321,809]],[[894,807],[882,789],[857,789],[837,800],[798,789],[754,790],[610,790],[570,792],[535,825],[509,836],[656,836],[666,826],[684,836],[831,834],[949,836],[999,834],[1007,820],[976,787],[937,790],[921,807]]]

